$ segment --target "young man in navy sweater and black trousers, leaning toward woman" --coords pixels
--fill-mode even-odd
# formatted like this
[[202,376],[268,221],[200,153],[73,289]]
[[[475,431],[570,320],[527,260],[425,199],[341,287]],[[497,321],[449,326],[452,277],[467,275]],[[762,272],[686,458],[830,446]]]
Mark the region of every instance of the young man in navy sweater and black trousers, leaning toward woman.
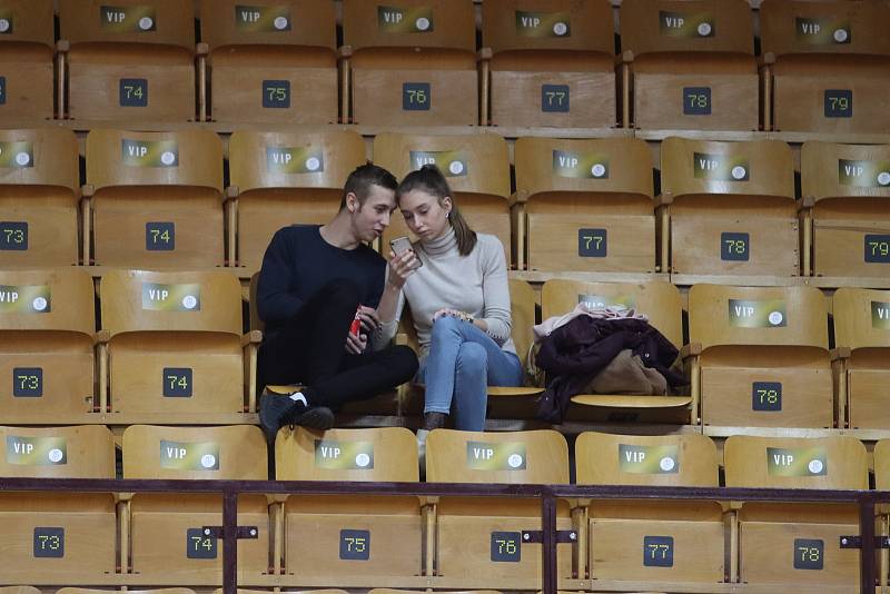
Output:
[[409,347],[368,347],[380,325],[386,261],[365,244],[389,225],[396,186],[386,169],[363,165],[346,179],[330,222],[285,227],[266,249],[257,286],[266,323],[259,382],[307,386],[286,396],[264,393],[259,420],[270,443],[287,424],[329,429],[344,404],[393,389],[417,370]]

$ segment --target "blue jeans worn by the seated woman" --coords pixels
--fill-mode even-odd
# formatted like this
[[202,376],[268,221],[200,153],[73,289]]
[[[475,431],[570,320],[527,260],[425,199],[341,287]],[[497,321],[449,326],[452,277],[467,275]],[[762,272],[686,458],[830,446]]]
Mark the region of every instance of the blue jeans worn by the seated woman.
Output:
[[468,321],[444,316],[433,323],[429,353],[417,382],[426,384],[424,413],[454,416],[454,427],[485,430],[487,386],[521,386],[522,364]]

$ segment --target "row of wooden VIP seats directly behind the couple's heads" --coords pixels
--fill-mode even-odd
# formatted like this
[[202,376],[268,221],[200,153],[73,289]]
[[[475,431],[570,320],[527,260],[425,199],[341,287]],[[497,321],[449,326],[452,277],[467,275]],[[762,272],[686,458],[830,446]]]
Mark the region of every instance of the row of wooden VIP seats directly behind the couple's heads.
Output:
[[[238,131],[225,194],[222,155],[210,131],[97,129],[81,189],[71,132],[1,130],[3,267],[228,264],[249,276],[278,228],[334,216],[366,152],[347,131]],[[520,138],[515,191],[495,135],[380,133],[374,160],[397,177],[438,165],[471,225],[520,270],[890,278],[890,145],[807,142],[801,198],[777,140],[668,138],[653,181],[639,139]],[[382,245],[402,235],[396,214]]]

